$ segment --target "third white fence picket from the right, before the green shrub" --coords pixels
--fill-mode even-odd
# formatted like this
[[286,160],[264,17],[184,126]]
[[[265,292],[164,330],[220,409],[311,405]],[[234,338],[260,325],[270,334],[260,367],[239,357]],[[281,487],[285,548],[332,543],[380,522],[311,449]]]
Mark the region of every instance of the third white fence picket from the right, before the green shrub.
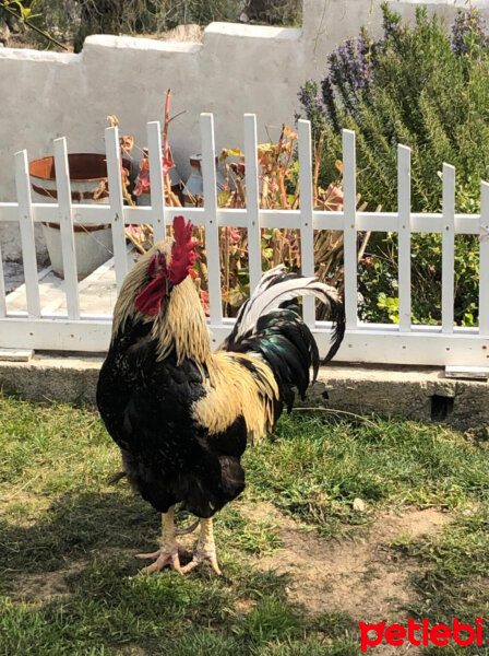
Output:
[[399,330],[410,330],[410,148],[397,147]]

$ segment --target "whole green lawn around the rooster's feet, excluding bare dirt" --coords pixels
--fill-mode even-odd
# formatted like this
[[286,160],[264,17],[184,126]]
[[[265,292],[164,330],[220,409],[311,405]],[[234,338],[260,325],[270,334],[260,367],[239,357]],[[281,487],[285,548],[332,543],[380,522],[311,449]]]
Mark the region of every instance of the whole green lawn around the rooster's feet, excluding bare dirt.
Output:
[[[139,574],[133,553],[154,549],[159,518],[108,484],[119,457],[97,414],[0,397],[0,656],[360,654],[351,618],[311,616],[286,576],[254,565],[279,553],[272,519],[240,503],[217,516],[225,579]],[[385,508],[445,508],[442,532],[398,539],[391,557],[417,563],[412,617],[473,623],[489,608],[488,448],[441,426],[297,413],[249,450],[246,503],[272,502],[327,539]]]

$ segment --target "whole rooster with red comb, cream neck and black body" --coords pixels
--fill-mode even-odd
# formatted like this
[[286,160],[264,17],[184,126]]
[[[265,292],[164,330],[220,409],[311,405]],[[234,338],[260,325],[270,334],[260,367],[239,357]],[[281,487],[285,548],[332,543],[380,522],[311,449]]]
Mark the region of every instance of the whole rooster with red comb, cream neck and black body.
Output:
[[[315,278],[263,276],[241,306],[229,337],[211,351],[205,314],[190,277],[198,257],[192,224],[174,221],[174,238],[154,245],[128,273],[114,313],[110,348],[102,366],[97,406],[119,446],[123,473],[162,513],[160,547],[145,572],[169,565],[180,573],[210,561],[220,574],[214,514],[244,489],[247,442],[272,431],[295,388],[303,398],[319,368],[314,338],[290,303],[312,295],[335,323],[327,362],[345,330],[336,291]],[[186,531],[176,504],[198,517]],[[193,559],[180,564],[178,535],[200,524]]]

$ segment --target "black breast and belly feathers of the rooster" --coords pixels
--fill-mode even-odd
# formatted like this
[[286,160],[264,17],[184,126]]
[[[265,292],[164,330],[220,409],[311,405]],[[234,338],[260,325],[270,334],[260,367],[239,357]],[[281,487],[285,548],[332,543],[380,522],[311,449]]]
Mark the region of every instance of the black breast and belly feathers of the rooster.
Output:
[[142,326],[129,321],[112,340],[97,386],[100,415],[143,499],[160,513],[183,502],[210,517],[244,489],[244,421],[212,436],[198,425],[191,406],[205,395],[202,367],[192,360],[177,365],[175,351],[157,362],[156,343]]

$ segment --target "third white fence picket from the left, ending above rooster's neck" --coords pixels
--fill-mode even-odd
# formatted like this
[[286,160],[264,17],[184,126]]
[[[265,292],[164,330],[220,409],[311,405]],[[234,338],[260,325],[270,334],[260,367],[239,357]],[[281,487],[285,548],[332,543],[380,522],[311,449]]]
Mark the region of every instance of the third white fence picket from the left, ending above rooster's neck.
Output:
[[119,130],[106,128],[105,147],[107,153],[107,174],[109,180],[109,203],[112,227],[112,247],[116,267],[117,291],[120,291],[128,272],[124,232],[124,201],[122,196],[122,173],[119,145]]

